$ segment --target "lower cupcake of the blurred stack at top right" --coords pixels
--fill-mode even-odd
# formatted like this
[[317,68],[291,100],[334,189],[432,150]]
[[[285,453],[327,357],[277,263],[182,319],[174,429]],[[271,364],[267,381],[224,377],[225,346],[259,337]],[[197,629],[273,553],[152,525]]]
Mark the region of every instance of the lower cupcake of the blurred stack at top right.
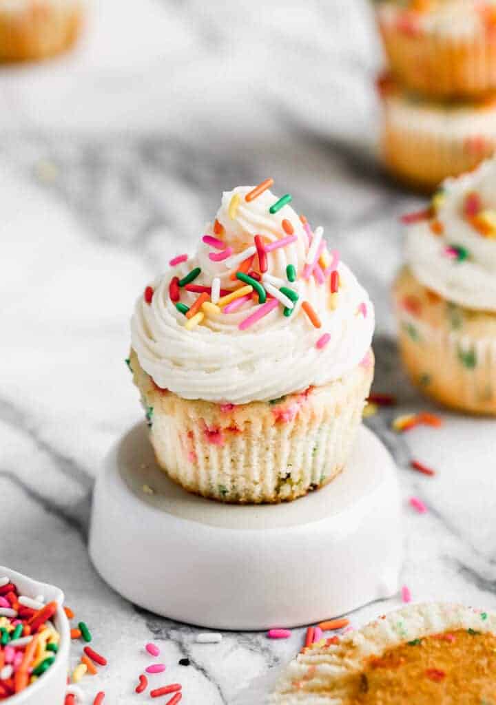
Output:
[[496,147],[496,101],[435,103],[380,78],[382,159],[400,180],[433,190],[476,167]]

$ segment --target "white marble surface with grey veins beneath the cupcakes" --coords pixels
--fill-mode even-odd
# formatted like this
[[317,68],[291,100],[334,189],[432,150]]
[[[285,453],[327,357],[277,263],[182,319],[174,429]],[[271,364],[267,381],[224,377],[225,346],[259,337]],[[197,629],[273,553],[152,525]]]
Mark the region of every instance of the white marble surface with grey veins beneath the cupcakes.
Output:
[[[442,412],[438,431],[389,430],[399,411],[430,405],[394,345],[398,216],[421,200],[375,164],[379,62],[359,0],[105,0],[74,54],[0,71],[0,563],[58,584],[92,627],[110,665],[83,682],[88,701],[100,688],[109,703],[136,701],[150,639],[185,705],[229,704],[301,646],[302,630],[195,644],[194,627],[114,594],[86,551],[95,475],[140,416],[123,362],[135,295],[193,243],[223,189],[268,174],[325,226],[377,306],[375,388],[400,404],[368,423],[399,467],[403,582],[416,601],[496,607],[495,422]],[[412,456],[437,476],[409,470]],[[409,508],[412,494],[427,514]]]

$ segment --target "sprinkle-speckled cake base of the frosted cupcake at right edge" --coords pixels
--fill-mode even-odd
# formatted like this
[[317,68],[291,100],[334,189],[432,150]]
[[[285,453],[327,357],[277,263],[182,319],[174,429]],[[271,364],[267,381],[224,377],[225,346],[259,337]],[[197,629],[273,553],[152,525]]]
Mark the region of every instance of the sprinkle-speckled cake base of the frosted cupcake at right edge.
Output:
[[394,284],[399,349],[409,376],[436,401],[496,415],[496,314],[457,306],[409,269]]

